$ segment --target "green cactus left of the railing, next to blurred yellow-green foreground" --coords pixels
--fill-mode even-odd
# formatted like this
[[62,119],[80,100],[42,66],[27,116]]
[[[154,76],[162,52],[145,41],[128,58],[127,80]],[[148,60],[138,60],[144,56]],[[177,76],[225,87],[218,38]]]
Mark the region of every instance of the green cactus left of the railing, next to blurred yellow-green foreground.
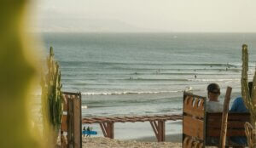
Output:
[[[44,128],[53,130],[55,143],[58,132],[61,128],[62,105],[61,105],[61,71],[59,65],[54,59],[53,48],[49,49],[49,57],[47,58],[47,72],[42,73],[42,111]],[[49,124],[49,125],[48,125]],[[46,133],[46,132],[44,132]],[[50,140],[50,139],[49,139]]]

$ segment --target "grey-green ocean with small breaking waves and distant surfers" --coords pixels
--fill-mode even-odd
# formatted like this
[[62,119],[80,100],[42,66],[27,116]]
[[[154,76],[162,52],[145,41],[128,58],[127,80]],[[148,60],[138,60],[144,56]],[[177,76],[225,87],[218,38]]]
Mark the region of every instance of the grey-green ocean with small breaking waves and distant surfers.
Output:
[[[83,117],[182,113],[183,91],[207,96],[218,83],[223,101],[241,95],[241,45],[249,48],[249,78],[255,69],[253,33],[44,33],[61,65],[62,90],[81,92]],[[232,100],[230,104],[232,103]],[[88,126],[88,125],[84,125]],[[99,131],[99,125],[90,125]],[[116,123],[117,139],[154,136],[148,122]],[[166,134],[181,133],[166,122]],[[139,130],[139,132],[138,132]]]

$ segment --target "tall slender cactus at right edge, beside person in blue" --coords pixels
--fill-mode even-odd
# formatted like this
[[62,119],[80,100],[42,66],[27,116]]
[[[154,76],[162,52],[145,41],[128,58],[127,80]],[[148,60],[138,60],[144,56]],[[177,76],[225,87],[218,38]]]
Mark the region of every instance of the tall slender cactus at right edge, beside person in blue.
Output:
[[[253,88],[252,88],[252,94],[249,92],[248,88],[248,80],[247,80],[247,71],[248,71],[248,50],[247,50],[247,45],[243,44],[242,45],[242,71],[241,71],[241,95],[244,104],[247,106],[247,109],[250,111],[251,114],[251,124],[253,127],[253,134],[251,133],[250,135],[255,135],[255,128],[256,128],[256,71],[254,73],[253,77]],[[247,130],[248,131],[248,130]],[[249,135],[249,134],[247,134]],[[256,137],[247,137],[248,140],[248,145],[254,145],[256,143]],[[253,144],[250,144],[249,141],[253,142]],[[253,146],[256,147],[256,146]]]

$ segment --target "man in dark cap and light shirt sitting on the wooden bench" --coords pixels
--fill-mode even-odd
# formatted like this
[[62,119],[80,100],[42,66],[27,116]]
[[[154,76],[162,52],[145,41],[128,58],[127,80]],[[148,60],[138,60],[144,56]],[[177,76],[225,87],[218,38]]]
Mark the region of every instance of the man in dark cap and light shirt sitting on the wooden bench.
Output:
[[217,83],[210,83],[207,86],[207,112],[222,112],[223,105],[218,101],[220,95],[220,88]]

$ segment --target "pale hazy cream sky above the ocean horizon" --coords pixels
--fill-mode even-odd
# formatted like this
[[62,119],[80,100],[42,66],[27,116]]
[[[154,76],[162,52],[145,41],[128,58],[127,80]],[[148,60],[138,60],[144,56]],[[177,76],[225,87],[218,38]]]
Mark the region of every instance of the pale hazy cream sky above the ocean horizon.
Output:
[[38,0],[39,31],[256,32],[255,0]]

